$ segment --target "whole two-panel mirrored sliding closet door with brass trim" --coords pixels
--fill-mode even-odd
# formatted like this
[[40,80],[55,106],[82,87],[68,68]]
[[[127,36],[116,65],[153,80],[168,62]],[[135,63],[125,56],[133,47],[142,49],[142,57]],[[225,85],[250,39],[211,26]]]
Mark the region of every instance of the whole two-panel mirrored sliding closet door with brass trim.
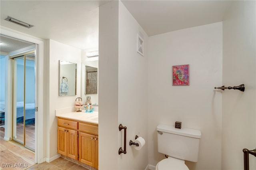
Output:
[[35,55],[13,58],[12,140],[35,150]]

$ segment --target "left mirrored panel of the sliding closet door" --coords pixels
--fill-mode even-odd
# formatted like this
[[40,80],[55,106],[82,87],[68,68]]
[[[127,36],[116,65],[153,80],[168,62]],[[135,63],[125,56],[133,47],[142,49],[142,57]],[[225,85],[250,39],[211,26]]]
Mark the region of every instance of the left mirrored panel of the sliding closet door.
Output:
[[24,144],[24,57],[13,65],[13,140]]

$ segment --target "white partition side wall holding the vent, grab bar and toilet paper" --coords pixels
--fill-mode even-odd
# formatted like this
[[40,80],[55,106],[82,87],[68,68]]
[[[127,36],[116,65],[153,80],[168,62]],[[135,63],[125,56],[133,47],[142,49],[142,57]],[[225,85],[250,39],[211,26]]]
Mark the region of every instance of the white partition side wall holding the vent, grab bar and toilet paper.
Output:
[[[127,127],[126,154],[118,156],[119,170],[143,170],[148,165],[148,36],[119,3],[118,34],[118,124]],[[137,52],[137,34],[144,39],[144,56]],[[124,148],[124,130],[118,146]],[[141,150],[129,146],[135,136],[146,140]]]

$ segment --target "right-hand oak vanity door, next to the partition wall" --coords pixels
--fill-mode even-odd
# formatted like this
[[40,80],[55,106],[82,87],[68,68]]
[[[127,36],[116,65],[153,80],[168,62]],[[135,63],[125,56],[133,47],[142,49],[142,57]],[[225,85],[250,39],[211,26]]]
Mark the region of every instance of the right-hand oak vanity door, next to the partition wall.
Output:
[[95,136],[83,132],[79,132],[78,152],[79,161],[84,164],[95,166]]

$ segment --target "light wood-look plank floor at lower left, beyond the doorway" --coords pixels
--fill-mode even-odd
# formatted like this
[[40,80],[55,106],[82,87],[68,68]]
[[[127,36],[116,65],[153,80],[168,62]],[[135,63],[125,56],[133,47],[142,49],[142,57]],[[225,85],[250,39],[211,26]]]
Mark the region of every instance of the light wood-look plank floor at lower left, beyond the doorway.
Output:
[[24,170],[34,165],[34,152],[15,142],[4,140],[4,127],[0,127],[0,165],[1,170]]

